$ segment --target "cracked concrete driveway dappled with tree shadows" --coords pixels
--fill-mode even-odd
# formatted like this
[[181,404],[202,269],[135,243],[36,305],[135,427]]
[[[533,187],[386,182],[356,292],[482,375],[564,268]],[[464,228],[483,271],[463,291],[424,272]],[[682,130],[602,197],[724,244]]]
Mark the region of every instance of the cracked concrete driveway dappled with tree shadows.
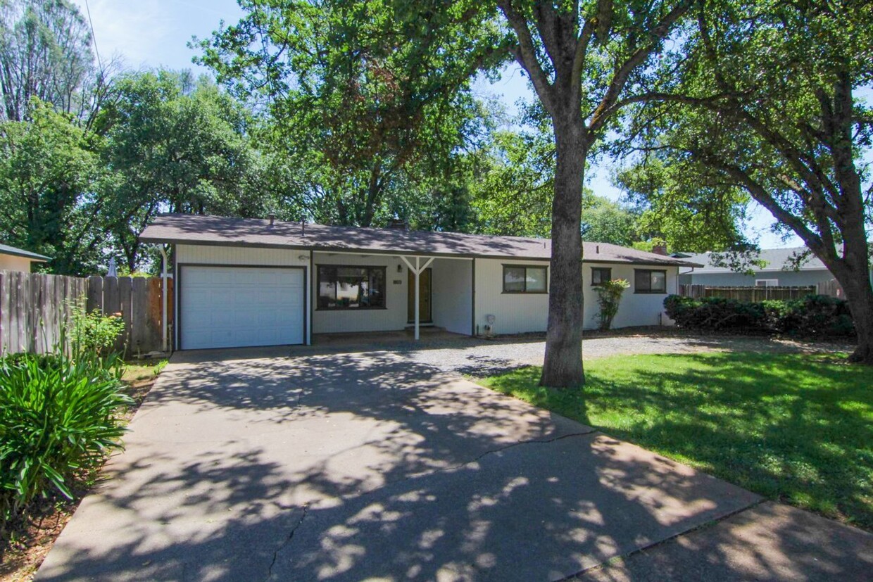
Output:
[[[687,578],[677,540],[768,506],[395,354],[286,353],[177,354],[37,578],[637,579],[672,546]],[[850,544],[809,572],[869,571],[873,537],[821,521]]]

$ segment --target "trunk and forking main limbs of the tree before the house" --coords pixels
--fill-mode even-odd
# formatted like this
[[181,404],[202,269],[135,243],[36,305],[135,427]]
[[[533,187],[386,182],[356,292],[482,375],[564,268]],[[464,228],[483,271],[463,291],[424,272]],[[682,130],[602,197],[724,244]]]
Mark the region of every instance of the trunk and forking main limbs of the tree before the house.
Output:
[[578,386],[581,361],[581,196],[588,155],[622,106],[649,91],[657,56],[690,0],[498,0],[512,53],[552,120],[556,147],[551,289],[540,383]]

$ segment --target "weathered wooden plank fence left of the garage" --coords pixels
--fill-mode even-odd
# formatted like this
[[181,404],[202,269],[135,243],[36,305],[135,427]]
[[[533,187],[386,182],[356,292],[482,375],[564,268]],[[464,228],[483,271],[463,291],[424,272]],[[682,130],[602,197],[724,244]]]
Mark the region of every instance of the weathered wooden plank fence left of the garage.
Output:
[[[168,332],[173,280],[167,281]],[[58,343],[70,305],[83,302],[124,320],[116,348],[127,356],[163,349],[161,277],[65,277],[0,270],[0,353],[46,353]],[[172,337],[170,335],[170,337]]]

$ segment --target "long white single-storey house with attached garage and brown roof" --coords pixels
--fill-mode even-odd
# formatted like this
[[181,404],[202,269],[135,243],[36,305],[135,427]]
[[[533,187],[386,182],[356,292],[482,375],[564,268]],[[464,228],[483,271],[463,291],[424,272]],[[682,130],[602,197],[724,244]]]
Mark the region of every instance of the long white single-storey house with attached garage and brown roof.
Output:
[[[420,325],[466,335],[546,330],[546,239],[191,215],[159,216],[140,238],[175,247],[179,349],[309,344],[332,332],[378,338]],[[694,265],[585,243],[585,325],[596,325],[593,285],[609,278],[631,284],[616,327],[670,324],[663,298],[677,292],[679,268]]]

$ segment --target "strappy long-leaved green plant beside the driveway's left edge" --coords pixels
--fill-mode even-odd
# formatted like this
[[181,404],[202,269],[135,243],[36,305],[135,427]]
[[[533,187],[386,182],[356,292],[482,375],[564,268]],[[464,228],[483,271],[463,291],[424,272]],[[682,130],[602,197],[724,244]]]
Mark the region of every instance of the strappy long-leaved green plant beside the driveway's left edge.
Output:
[[0,525],[35,496],[71,498],[72,479],[120,446],[115,414],[132,403],[120,364],[114,356],[0,359]]

